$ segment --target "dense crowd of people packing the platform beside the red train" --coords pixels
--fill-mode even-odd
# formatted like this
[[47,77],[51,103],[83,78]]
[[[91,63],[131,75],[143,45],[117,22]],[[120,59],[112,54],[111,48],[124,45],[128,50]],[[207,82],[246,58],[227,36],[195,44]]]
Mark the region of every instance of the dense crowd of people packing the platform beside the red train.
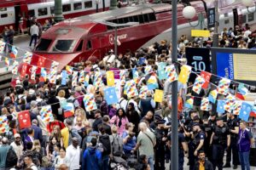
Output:
[[[220,46],[230,47],[238,41],[236,48],[240,44],[254,47],[255,42],[253,45],[251,42],[255,40],[246,32],[239,27],[232,33],[224,30]],[[197,39],[191,42],[186,36],[182,36],[178,44],[178,57],[183,59],[186,47],[199,46]],[[203,46],[207,45],[211,46],[211,39],[204,41]],[[150,74],[154,75],[160,62],[172,62],[171,54],[171,45],[163,40],[135,54],[127,50],[116,57],[111,50],[102,61],[91,63],[87,60],[79,69],[101,71],[102,82],[107,86],[106,71],[110,67],[126,69],[126,80],[132,79],[131,68],[137,67],[137,88],[141,88],[148,81],[143,66],[152,65]],[[39,76],[36,82],[26,77],[17,80],[14,88],[2,94],[0,113],[7,116],[10,130],[1,135],[0,169],[165,169],[166,162],[172,160],[172,104],[169,99],[172,82],[158,80],[158,87],[163,89],[165,96],[160,103],[154,101],[154,90],[148,90],[145,99],[128,98],[122,87],[119,102],[108,105],[102,88],[91,85],[93,77],[91,72],[88,86],[80,82],[72,86],[71,77],[66,85],[61,85],[61,77],[55,84],[48,79],[41,82]],[[184,158],[188,157],[191,170],[223,169],[231,167],[233,156],[233,169],[238,165],[242,170],[250,169],[249,152],[254,140],[247,130],[247,122],[232,112],[220,115],[213,110],[201,111],[201,98],[207,96],[211,83],[207,89],[201,89],[200,94],[192,91],[189,83],[193,84],[178,82],[178,168],[183,169]],[[84,94],[94,95],[95,111],[85,111]],[[183,106],[187,94],[195,96],[194,109]],[[73,104],[73,116],[64,117],[62,101]],[[51,106],[53,122],[42,120],[40,109],[44,105]],[[26,110],[29,110],[32,126],[20,129],[17,113]],[[223,165],[225,151],[227,158]]]

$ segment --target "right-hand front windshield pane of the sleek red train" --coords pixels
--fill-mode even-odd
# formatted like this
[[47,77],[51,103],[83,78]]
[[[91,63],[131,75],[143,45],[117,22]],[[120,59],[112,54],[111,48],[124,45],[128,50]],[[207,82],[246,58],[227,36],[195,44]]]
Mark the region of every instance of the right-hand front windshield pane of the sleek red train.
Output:
[[52,50],[61,53],[72,52],[74,44],[74,40],[57,40]]

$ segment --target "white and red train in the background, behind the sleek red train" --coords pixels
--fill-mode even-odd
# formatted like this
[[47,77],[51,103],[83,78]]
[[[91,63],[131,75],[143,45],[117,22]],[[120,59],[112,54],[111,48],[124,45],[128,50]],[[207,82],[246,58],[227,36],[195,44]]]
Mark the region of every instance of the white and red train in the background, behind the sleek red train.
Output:
[[[20,16],[23,18],[23,28],[29,26],[29,19],[36,17],[44,25],[45,20],[53,18],[54,0],[1,0],[0,3],[0,32],[4,26],[18,28]],[[127,5],[127,0],[123,2]],[[110,0],[62,0],[65,19],[107,11]]]

